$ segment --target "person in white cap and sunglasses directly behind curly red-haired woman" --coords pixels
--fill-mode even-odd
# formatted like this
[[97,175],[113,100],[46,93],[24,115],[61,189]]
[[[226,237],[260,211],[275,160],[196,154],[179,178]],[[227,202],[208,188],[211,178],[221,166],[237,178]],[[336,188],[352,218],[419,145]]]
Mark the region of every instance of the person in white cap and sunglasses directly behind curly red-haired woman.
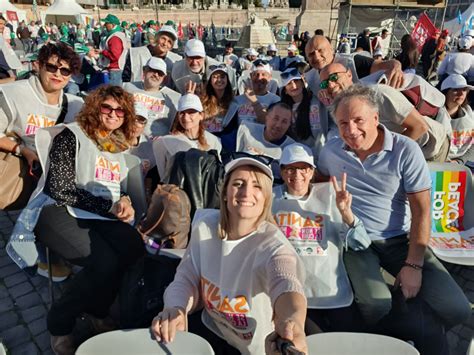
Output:
[[135,105],[147,110],[144,134],[159,137],[169,133],[176,116],[179,93],[163,86],[166,64],[161,58],[151,57],[143,66],[143,81],[125,83],[123,88],[133,94]]

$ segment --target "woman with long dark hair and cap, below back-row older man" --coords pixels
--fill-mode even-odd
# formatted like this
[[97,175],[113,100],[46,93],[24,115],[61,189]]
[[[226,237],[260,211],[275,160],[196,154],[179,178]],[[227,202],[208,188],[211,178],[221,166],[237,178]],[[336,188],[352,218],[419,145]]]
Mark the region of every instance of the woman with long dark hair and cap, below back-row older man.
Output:
[[223,120],[234,98],[225,64],[211,65],[211,74],[202,98],[205,120],[204,128],[216,136],[224,129]]

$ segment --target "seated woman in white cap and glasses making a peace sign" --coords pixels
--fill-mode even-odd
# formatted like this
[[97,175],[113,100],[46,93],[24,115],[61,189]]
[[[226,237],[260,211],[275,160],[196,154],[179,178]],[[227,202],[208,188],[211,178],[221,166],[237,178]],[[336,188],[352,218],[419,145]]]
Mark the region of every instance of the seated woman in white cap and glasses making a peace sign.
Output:
[[[286,146],[280,159],[284,184],[273,189],[273,216],[305,266],[308,300],[306,332],[360,331],[363,323],[342,260],[343,248],[366,249],[364,225],[352,213],[352,196],[341,185],[311,184],[315,171],[311,150]],[[315,326],[316,324],[316,326]]]

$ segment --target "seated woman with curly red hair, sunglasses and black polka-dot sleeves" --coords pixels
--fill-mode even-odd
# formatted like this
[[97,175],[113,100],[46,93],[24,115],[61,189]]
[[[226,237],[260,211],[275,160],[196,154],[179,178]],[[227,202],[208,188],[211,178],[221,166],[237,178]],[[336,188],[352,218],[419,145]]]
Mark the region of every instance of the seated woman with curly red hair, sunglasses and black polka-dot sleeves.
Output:
[[[124,154],[134,121],[132,96],[102,86],[87,97],[77,122],[38,132],[46,178],[33,199],[44,201],[36,239],[83,266],[48,313],[56,354],[74,353],[72,331],[82,313],[91,315],[97,332],[113,329],[109,308],[125,270],[143,253],[143,241],[130,225],[135,212],[126,184],[129,161],[139,164]],[[43,151],[47,147],[49,153]]]

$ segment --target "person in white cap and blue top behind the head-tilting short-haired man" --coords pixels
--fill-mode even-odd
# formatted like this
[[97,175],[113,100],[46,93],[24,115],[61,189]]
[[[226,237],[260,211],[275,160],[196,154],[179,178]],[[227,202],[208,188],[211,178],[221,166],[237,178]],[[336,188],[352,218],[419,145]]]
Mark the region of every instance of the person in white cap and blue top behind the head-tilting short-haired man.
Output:
[[257,59],[253,62],[250,73],[251,87],[245,94],[236,96],[224,118],[225,126],[237,114],[238,123],[242,121],[265,123],[266,109],[279,102],[280,97],[268,91],[268,83],[272,79],[272,68],[266,60]]

